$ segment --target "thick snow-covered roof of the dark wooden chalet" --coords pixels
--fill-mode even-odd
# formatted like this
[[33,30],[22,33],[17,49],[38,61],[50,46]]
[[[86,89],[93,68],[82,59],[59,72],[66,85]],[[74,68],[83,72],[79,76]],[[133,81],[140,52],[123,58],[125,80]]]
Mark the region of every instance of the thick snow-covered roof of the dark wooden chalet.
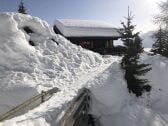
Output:
[[104,21],[57,19],[54,25],[65,37],[120,37],[118,29]]

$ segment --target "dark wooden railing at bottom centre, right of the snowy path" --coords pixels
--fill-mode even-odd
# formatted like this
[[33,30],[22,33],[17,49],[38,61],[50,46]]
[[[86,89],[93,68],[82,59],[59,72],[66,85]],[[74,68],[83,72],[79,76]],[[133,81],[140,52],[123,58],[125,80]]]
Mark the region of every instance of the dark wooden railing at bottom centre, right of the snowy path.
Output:
[[83,89],[70,104],[58,126],[87,126],[89,124],[90,91]]

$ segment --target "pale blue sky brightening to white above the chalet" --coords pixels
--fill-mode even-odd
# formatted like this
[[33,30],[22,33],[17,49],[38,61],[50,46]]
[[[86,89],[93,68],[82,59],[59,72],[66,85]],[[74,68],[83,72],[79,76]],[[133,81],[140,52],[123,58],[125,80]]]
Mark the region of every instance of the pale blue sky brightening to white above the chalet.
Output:
[[[0,11],[17,11],[20,0],[0,0]],[[143,32],[156,28],[152,15],[158,13],[160,0],[23,0],[28,14],[49,24],[57,18],[103,20],[116,26],[127,15],[127,7],[135,15],[133,23]]]

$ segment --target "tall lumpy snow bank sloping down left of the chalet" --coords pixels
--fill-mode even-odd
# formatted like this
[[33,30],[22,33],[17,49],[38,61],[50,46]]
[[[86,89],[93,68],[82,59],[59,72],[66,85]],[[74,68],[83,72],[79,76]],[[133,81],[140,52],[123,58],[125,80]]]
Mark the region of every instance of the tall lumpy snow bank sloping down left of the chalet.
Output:
[[45,21],[17,13],[0,14],[0,57],[0,114],[55,86],[59,100],[72,99],[81,86],[71,84],[108,62],[56,35]]

